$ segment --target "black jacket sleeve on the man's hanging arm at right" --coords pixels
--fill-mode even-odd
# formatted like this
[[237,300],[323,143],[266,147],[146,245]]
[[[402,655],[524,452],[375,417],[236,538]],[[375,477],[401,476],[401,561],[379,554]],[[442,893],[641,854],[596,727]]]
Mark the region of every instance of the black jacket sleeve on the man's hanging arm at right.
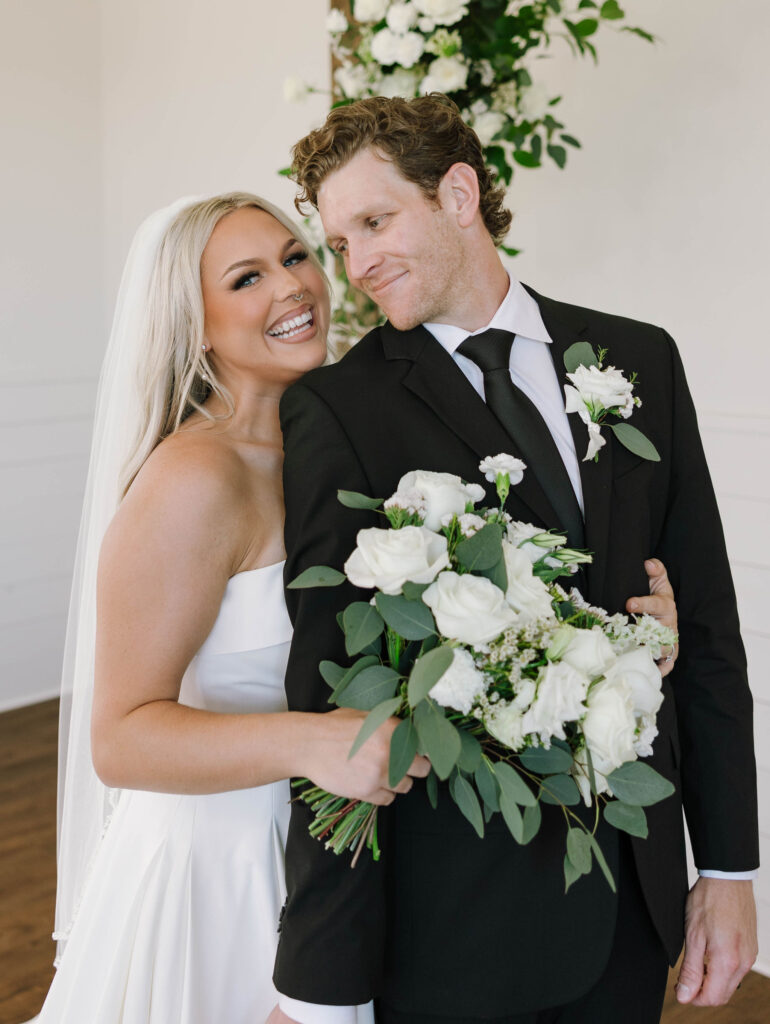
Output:
[[695,409],[682,361],[670,346],[672,470],[656,554],[669,568],[679,610],[680,653],[672,674],[681,744],[682,799],[699,868],[759,864],[753,703],[735,591]]

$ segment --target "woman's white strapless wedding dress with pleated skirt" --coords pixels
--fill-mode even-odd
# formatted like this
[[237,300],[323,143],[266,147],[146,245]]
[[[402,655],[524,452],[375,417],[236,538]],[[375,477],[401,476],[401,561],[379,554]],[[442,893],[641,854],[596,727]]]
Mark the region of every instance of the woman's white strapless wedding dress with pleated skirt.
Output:
[[[181,703],[286,711],[282,569],[229,580]],[[277,998],[288,823],[288,781],[212,796],[124,791],[37,1024],[261,1024]]]

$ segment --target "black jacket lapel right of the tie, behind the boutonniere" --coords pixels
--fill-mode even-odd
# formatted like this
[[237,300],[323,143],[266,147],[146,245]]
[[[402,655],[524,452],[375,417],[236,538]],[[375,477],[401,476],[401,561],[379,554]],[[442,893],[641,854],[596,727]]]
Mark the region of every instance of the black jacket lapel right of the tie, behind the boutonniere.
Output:
[[[559,384],[563,389],[569,381],[564,369],[564,353],[575,341],[591,341],[588,328],[580,310],[554,302],[538,295],[531,288],[524,286],[540,306],[543,323],[551,337],[551,357]],[[593,551],[594,561],[588,569],[589,593],[591,598],[601,603],[604,578],[607,571],[607,548],[609,538],[609,517],[612,496],[612,444],[609,438],[599,452],[598,462],[584,462],[583,457],[588,447],[588,431],[586,425],[576,413],[567,416],[569,428],[578,453],[578,464],[583,485],[583,503],[586,520],[586,547]]]

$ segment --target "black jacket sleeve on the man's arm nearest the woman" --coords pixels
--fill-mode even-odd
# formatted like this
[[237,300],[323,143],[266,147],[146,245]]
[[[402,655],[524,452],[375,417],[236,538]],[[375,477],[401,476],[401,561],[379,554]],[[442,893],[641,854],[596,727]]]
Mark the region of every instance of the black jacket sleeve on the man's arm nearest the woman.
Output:
[[[282,399],[281,422],[290,582],[310,565],[341,569],[357,530],[378,523],[374,513],[343,508],[337,501],[338,488],[368,495],[371,488],[329,404],[305,384],[296,384]],[[290,590],[287,599],[295,631],[286,677],[289,708],[330,711],[318,663],[349,660],[336,615],[351,600],[360,600],[361,592],[344,584]],[[275,987],[306,1002],[366,1002],[379,990],[382,974],[383,863],[365,852],[351,868],[349,854],[336,856],[308,835],[310,817],[304,804],[293,804]]]

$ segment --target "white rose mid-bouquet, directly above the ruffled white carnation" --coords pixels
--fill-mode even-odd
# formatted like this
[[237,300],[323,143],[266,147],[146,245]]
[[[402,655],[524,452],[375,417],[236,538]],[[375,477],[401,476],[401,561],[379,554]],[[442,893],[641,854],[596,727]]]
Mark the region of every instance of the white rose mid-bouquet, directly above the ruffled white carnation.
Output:
[[483,577],[441,572],[423,601],[443,636],[472,646],[494,640],[516,621],[503,591]]

